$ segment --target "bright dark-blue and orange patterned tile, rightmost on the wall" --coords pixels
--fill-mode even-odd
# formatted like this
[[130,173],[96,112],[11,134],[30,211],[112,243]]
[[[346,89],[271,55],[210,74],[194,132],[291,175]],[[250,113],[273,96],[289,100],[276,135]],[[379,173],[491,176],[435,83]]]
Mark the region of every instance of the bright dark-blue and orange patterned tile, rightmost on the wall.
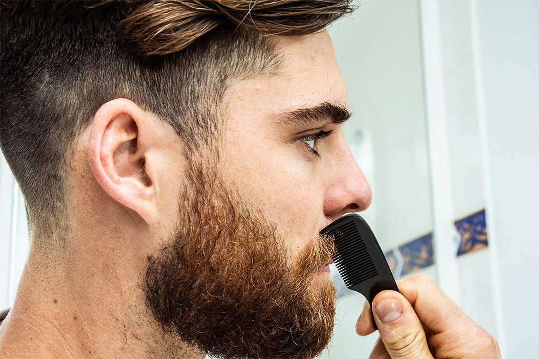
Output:
[[485,210],[482,209],[479,212],[455,221],[455,227],[457,227],[462,238],[457,256],[488,247],[485,217]]

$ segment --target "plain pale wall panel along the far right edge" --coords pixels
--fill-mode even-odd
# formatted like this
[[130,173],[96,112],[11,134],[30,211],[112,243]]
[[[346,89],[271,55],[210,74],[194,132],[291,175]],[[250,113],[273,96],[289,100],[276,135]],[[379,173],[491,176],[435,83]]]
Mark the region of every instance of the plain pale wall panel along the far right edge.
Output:
[[502,355],[538,358],[539,2],[472,5]]

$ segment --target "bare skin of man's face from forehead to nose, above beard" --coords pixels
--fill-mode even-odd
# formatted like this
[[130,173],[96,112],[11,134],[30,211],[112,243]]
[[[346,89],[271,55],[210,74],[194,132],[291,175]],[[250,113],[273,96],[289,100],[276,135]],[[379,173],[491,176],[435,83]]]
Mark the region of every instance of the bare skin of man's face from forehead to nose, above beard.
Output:
[[[342,118],[331,118],[328,111],[289,113],[324,103],[347,107],[328,33],[279,37],[278,43],[284,62],[277,74],[227,90],[221,163],[225,180],[275,223],[294,257],[327,224],[366,209],[371,191],[345,143],[342,124],[332,123]],[[321,131],[331,134],[316,142],[308,138]],[[318,155],[309,149],[313,144]]]

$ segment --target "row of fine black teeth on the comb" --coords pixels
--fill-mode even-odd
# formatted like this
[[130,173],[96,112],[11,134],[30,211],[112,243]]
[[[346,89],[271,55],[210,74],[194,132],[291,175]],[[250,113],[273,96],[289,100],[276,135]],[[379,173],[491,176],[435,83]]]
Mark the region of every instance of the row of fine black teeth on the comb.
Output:
[[331,231],[335,241],[333,261],[347,287],[375,277],[378,272],[354,222]]

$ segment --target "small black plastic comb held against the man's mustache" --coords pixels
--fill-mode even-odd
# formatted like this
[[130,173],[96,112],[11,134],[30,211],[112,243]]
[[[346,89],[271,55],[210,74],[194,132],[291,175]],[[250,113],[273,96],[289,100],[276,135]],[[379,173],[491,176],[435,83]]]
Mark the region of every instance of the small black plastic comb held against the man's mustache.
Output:
[[[385,290],[399,291],[391,274],[384,252],[369,225],[358,214],[349,214],[330,223],[320,234],[333,237],[335,252],[333,261],[344,284],[367,298],[372,299]],[[374,316],[372,323],[375,329]]]

